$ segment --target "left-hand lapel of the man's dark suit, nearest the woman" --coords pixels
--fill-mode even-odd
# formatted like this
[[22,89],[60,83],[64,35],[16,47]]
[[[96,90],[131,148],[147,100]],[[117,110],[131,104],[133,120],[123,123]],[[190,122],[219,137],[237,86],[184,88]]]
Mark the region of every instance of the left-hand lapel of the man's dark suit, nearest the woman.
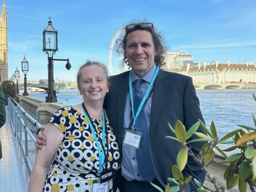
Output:
[[119,80],[118,84],[118,101],[117,101],[117,118],[118,118],[118,129],[119,129],[119,145],[122,142],[123,125],[124,125],[124,111],[126,96],[129,88],[128,84],[129,73],[124,73]]

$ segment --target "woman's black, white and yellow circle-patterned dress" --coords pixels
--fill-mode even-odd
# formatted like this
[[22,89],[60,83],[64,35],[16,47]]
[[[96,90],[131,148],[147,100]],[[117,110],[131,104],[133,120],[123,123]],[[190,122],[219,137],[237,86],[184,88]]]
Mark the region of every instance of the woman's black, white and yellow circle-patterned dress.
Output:
[[[108,168],[118,170],[121,159],[117,139],[113,134],[108,116],[106,129],[109,146]],[[92,192],[94,180],[100,178],[99,154],[95,140],[91,134],[88,119],[73,106],[56,110],[49,120],[64,134],[51,169],[47,174],[44,192]],[[91,119],[95,134],[102,143],[102,120]],[[104,164],[103,170],[106,165]],[[109,192],[113,191],[112,180]]]

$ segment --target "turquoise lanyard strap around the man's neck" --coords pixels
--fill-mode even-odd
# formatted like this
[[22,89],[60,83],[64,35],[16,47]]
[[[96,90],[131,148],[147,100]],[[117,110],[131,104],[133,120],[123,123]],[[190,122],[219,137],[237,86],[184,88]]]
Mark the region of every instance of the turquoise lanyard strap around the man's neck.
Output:
[[129,74],[129,92],[130,92],[130,98],[131,98],[131,108],[132,108],[132,117],[133,117],[132,129],[133,130],[134,130],[134,125],[135,125],[136,119],[137,119],[141,109],[143,108],[143,105],[144,105],[144,103],[146,101],[146,98],[148,97],[148,94],[149,94],[149,92],[150,92],[150,90],[151,90],[151,88],[152,88],[152,86],[155,82],[155,78],[156,78],[156,75],[157,75],[158,72],[159,72],[159,66],[157,65],[155,73],[154,73],[154,75],[153,75],[153,77],[150,81],[150,84],[149,84],[147,90],[146,90],[146,93],[145,93],[145,95],[144,95],[143,99],[141,100],[141,103],[138,107],[137,113],[136,113],[136,115],[134,115],[133,94],[132,94],[132,79],[131,79],[131,71],[130,71],[130,74]]

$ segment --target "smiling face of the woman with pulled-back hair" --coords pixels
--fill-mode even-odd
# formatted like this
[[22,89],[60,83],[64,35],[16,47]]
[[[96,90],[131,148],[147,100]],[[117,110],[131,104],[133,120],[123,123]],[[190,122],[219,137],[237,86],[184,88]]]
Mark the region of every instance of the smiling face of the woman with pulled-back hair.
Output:
[[109,92],[107,74],[98,65],[83,67],[80,72],[78,89],[86,102],[102,102]]

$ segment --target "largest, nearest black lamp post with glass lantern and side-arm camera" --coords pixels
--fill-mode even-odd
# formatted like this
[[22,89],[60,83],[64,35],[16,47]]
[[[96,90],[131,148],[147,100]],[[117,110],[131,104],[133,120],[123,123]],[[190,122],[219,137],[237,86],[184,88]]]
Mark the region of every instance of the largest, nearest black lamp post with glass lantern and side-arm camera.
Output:
[[48,56],[48,93],[46,96],[46,103],[57,102],[57,97],[54,90],[53,61],[67,61],[67,64],[66,64],[67,70],[71,68],[69,59],[53,58],[53,55],[57,50],[58,50],[57,31],[52,25],[51,17],[49,17],[48,26],[43,31],[43,51],[45,51]]

